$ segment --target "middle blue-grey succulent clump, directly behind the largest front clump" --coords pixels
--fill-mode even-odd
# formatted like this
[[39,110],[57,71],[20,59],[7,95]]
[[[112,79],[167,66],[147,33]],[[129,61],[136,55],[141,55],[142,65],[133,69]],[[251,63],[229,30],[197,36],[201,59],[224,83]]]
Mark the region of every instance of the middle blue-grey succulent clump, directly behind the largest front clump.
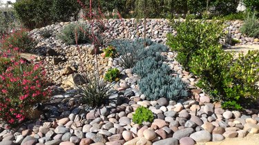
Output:
[[133,72],[139,77],[146,77],[157,69],[161,70],[161,75],[169,75],[169,66],[163,64],[162,61],[155,61],[154,57],[147,57],[145,59],[137,61],[137,64],[133,67]]

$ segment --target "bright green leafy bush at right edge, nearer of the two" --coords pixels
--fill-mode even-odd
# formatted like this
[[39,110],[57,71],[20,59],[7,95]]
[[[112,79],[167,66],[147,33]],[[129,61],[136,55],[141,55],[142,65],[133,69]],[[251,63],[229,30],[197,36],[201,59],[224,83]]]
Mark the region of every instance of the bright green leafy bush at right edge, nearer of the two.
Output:
[[198,86],[220,101],[223,108],[251,107],[258,98],[259,53],[249,52],[234,60],[221,46],[199,50],[191,60],[191,72],[200,77]]

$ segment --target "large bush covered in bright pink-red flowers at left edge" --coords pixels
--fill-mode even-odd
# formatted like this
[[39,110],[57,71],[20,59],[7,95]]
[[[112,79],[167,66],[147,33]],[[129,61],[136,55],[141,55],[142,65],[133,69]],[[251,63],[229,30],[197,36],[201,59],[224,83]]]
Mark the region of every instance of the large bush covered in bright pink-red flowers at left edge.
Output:
[[[26,63],[18,51],[18,48],[10,47],[10,64],[0,72],[0,122],[10,127],[23,122],[26,110],[46,101],[50,95],[48,79],[41,64]],[[10,57],[6,54],[1,52],[1,59]]]

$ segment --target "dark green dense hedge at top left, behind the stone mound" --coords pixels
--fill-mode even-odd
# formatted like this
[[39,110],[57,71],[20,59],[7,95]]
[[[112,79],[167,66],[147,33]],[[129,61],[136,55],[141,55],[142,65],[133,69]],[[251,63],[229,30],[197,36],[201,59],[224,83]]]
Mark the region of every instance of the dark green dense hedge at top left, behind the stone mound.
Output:
[[79,12],[77,1],[21,0],[14,3],[15,11],[26,28],[41,28],[59,21],[70,21]]

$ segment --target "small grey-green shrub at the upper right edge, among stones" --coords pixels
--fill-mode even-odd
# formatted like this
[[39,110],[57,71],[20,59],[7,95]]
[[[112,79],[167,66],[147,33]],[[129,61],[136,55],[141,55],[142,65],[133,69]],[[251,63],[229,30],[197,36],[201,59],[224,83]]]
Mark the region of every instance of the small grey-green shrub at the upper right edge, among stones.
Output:
[[259,37],[259,21],[255,14],[247,16],[240,31],[249,37]]

